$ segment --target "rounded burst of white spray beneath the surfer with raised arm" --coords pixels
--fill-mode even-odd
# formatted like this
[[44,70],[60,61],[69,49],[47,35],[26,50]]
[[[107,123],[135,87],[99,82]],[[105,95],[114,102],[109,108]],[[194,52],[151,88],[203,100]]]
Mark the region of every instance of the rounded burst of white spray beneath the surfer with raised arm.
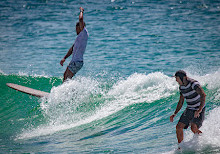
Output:
[[79,111],[81,106],[89,107],[91,97],[101,93],[99,82],[82,77],[52,88],[50,97],[41,107],[52,123],[78,122],[83,116]]

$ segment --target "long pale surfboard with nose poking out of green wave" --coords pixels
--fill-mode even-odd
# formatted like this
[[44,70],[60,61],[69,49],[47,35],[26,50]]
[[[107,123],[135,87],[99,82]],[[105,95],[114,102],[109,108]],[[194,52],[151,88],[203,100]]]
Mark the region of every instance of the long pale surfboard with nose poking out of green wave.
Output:
[[32,88],[28,88],[25,86],[21,86],[18,84],[14,84],[14,83],[6,83],[6,85],[12,89],[15,89],[17,91],[32,95],[32,96],[36,96],[36,97],[46,97],[49,95],[49,93],[44,92],[44,91],[40,91],[40,90],[36,90],[36,89],[32,89]]

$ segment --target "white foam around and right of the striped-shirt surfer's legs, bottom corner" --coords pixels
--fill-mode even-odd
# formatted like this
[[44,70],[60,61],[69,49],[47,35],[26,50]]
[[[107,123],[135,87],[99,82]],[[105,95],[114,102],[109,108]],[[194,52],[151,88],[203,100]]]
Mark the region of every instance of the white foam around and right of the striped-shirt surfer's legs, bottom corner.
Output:
[[[184,134],[184,140],[181,143],[181,152],[200,153],[208,149],[208,153],[212,149],[220,149],[220,107],[211,110],[203,122],[201,135],[194,135],[191,130],[187,130]],[[177,145],[176,145],[177,149]],[[214,151],[214,150],[213,150]],[[179,153],[178,150],[166,152],[166,154]],[[204,152],[203,152],[204,153]]]

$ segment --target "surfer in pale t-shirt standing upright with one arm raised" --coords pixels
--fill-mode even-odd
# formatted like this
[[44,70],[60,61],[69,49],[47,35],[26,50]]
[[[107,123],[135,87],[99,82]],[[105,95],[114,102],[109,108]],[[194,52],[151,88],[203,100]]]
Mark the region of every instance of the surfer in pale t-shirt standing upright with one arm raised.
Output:
[[72,60],[70,61],[69,65],[66,68],[66,71],[64,72],[63,82],[67,78],[71,79],[83,66],[83,54],[85,53],[89,36],[88,31],[85,27],[85,22],[83,21],[83,12],[84,9],[80,7],[79,22],[76,23],[76,40],[65,55],[65,57],[60,61],[60,65],[63,66],[66,58],[73,54]]

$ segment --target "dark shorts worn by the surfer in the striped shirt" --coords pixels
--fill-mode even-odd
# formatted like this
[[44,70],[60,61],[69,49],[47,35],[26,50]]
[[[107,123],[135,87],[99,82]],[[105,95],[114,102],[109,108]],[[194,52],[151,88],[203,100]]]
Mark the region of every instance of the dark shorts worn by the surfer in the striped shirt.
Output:
[[198,118],[194,118],[194,113],[196,110],[186,109],[180,117],[179,122],[185,124],[184,129],[189,127],[190,123],[194,123],[198,128],[202,126],[202,122],[205,119],[205,107],[202,109],[202,112],[199,114]]

